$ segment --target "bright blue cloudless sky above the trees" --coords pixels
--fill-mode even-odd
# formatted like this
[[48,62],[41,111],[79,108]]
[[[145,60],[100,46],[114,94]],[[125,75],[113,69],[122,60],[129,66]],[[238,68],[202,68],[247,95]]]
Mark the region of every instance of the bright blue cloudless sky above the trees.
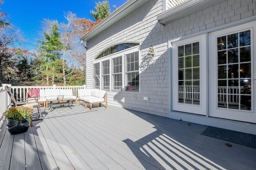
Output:
[[[44,19],[58,20],[66,23],[64,12],[71,11],[78,18],[93,20],[90,10],[94,10],[95,2],[103,0],[4,0],[0,5],[3,12],[8,14],[10,22],[15,28],[20,29],[22,37],[26,39],[27,49],[36,48],[36,39],[40,39],[42,21]],[[120,7],[127,0],[108,0],[111,12],[113,7]]]

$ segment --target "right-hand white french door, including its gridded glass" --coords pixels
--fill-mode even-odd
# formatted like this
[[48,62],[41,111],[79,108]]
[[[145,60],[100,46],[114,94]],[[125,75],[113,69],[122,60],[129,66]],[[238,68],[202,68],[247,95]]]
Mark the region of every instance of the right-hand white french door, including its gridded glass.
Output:
[[209,34],[209,116],[256,123],[256,22]]

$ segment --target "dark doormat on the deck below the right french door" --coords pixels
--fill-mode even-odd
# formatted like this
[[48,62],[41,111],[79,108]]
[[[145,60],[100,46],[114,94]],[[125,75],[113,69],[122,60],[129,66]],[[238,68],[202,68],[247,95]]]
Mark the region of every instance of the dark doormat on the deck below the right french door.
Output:
[[202,135],[256,148],[256,135],[209,126]]

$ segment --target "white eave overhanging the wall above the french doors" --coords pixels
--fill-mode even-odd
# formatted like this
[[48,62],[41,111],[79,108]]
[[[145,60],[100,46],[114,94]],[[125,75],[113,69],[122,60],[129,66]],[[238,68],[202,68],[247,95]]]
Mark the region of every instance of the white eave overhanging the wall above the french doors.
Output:
[[159,14],[157,19],[160,23],[166,25],[224,1],[226,0],[188,0],[187,2]]

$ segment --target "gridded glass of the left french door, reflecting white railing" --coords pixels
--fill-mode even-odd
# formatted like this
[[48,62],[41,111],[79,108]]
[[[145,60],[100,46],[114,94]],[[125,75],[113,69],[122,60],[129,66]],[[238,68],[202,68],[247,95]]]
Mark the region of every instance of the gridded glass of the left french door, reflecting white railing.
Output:
[[178,102],[200,105],[200,44],[178,47]]

